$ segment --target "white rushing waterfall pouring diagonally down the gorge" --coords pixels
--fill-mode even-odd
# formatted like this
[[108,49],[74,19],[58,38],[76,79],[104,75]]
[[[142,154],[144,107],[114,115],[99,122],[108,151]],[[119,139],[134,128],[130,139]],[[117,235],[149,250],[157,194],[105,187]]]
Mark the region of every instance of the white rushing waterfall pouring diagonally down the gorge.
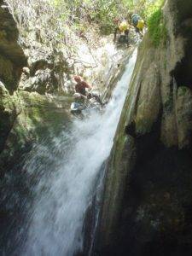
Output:
[[[96,177],[113,146],[136,57],[137,50],[104,113],[92,113],[84,121],[75,119],[68,134],[55,138],[54,147],[37,149],[37,154],[48,160],[44,167],[47,175],[37,184],[22,255],[72,256],[83,247],[85,212],[96,189]],[[39,164],[34,158],[26,164],[27,172],[40,176],[41,165],[42,160]]]

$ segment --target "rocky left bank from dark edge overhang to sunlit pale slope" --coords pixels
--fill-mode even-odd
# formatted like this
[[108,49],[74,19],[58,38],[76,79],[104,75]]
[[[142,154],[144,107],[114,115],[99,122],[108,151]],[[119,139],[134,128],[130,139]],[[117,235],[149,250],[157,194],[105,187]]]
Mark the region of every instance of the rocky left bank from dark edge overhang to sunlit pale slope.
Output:
[[[113,74],[118,76],[125,55],[115,49],[110,37],[100,38],[90,29],[82,38],[61,20],[57,22],[55,9],[48,3],[25,4],[17,0],[0,2],[3,163],[25,142],[41,137],[37,134],[39,126],[55,127],[55,119],[51,119],[54,113],[62,123],[62,109],[68,120],[74,74],[83,75],[100,90],[107,83],[114,84]],[[105,93],[109,95],[108,84]],[[1,172],[5,172],[4,164]]]

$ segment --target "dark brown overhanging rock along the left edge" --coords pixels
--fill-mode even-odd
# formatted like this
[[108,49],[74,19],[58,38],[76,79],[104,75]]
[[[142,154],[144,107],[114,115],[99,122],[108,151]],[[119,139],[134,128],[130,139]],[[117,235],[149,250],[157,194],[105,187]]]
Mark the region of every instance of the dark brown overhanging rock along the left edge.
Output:
[[15,118],[15,102],[10,96],[17,89],[26,56],[17,43],[18,30],[8,9],[0,2],[0,152]]

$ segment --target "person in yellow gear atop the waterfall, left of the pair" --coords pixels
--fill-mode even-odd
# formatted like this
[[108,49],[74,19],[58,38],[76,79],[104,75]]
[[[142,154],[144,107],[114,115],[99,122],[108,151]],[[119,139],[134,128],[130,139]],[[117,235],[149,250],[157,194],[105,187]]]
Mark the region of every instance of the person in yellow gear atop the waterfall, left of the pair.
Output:
[[126,20],[122,20],[119,22],[119,19],[115,19],[114,23],[117,25],[117,27],[114,30],[113,41],[114,42],[116,41],[117,33],[119,33],[120,34],[119,43],[128,44],[128,41],[129,41],[128,36],[129,36],[129,28],[130,28],[128,22]]

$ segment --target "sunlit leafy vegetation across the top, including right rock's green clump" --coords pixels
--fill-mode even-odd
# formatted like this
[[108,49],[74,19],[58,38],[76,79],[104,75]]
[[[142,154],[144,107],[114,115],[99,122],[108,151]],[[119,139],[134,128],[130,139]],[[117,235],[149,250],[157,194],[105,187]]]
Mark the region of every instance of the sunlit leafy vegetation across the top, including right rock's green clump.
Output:
[[[23,33],[41,34],[44,44],[70,45],[74,36],[85,38],[88,31],[109,34],[114,31],[115,19],[137,13],[147,21],[155,45],[159,44],[165,27],[161,25],[160,5],[164,0],[5,0]],[[155,31],[158,26],[157,32]],[[24,35],[25,37],[25,35]],[[73,38],[73,40],[71,40]]]

